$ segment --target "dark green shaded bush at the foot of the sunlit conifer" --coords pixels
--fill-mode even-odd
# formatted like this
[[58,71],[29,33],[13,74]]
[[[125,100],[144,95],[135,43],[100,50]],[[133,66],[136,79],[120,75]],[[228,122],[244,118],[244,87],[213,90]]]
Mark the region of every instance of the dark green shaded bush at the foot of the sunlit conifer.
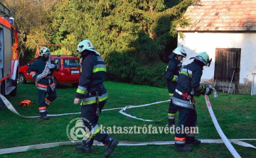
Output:
[[132,57],[129,57],[129,52],[108,53],[105,61],[107,64],[106,80],[161,88],[166,86],[166,64],[164,62],[159,61],[154,62],[154,64],[139,65]]

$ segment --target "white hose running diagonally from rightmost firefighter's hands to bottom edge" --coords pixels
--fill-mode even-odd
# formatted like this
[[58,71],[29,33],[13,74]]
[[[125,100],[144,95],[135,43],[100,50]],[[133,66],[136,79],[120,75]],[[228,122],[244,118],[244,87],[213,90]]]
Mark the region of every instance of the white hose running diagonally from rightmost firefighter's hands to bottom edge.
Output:
[[233,154],[233,157],[240,158],[240,154],[238,154],[238,152],[235,150],[233,145],[231,145],[230,141],[228,141],[228,138],[224,135],[223,131],[221,130],[220,125],[218,124],[218,121],[213,113],[213,108],[211,108],[209,97],[207,95],[205,95],[205,98],[206,98],[206,105],[207,105],[208,111],[210,113],[210,117],[213,120],[214,126],[215,126],[216,130],[218,131],[218,134],[220,135],[221,139],[225,143],[225,146],[228,147],[228,150],[231,152],[231,154]]

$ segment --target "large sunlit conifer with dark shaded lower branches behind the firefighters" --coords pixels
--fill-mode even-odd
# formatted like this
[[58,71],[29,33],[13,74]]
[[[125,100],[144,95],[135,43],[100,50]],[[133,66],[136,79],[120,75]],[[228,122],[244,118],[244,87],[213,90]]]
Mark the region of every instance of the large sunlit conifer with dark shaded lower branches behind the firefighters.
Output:
[[186,23],[181,17],[194,1],[63,0],[55,16],[58,39],[70,51],[91,40],[105,59],[107,79],[165,86],[163,62],[177,45],[176,24]]

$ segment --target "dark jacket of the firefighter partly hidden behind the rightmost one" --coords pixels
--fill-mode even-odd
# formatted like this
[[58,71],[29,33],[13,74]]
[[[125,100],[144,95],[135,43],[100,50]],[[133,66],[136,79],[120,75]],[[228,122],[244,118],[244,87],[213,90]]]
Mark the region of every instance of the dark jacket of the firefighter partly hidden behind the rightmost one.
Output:
[[182,63],[171,58],[166,67],[166,83],[168,86],[169,96],[174,96],[174,90],[177,86],[178,74],[182,67]]

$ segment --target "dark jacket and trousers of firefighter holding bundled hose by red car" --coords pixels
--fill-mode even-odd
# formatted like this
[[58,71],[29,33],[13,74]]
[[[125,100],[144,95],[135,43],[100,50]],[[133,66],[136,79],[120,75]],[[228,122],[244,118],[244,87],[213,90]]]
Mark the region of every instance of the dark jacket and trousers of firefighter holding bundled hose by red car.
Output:
[[[39,56],[38,59],[28,67],[28,74],[36,79],[39,74],[43,73],[47,61],[48,59],[46,59],[46,57]],[[55,62],[50,60],[50,64],[55,64]],[[53,72],[54,70],[58,71],[59,69],[60,67],[55,64],[55,69],[49,69],[50,74],[43,77],[43,79],[36,81],[36,88],[38,89],[38,109],[41,117],[47,115],[48,111],[46,108],[55,100],[55,98],[57,98],[55,83],[53,81]],[[47,97],[46,94],[48,94]]]

